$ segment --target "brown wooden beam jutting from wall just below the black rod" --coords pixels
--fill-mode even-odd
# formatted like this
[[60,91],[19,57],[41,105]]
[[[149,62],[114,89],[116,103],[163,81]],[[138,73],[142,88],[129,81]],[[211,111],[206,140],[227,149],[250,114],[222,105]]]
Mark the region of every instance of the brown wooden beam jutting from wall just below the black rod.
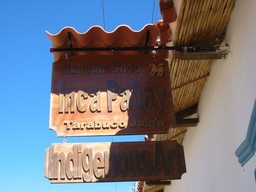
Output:
[[225,59],[228,52],[215,52],[215,51],[196,51],[184,52],[174,51],[174,58],[179,60],[205,60],[205,59]]

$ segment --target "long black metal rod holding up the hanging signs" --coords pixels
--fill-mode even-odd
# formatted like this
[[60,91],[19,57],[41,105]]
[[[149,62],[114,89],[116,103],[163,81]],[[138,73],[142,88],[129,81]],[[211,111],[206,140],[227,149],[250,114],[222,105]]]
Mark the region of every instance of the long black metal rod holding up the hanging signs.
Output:
[[[142,50],[175,50],[175,51],[218,51],[222,46],[135,46],[135,47],[84,47],[84,48],[50,48],[50,52],[83,52],[83,51],[142,51]],[[223,50],[224,51],[224,50]]]

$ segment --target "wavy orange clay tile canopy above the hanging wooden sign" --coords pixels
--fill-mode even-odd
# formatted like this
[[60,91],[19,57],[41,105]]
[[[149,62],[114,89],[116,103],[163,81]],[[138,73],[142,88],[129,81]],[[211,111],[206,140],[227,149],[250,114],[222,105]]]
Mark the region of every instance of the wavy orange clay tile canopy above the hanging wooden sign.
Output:
[[[72,44],[74,48],[81,47],[120,47],[120,46],[145,46],[146,31],[150,30],[148,46],[155,46],[159,35],[159,29],[152,24],[144,26],[139,31],[134,31],[126,25],[120,25],[112,32],[105,31],[102,27],[93,26],[85,33],[77,32],[73,27],[65,27],[59,33],[53,35],[46,31],[46,34],[52,42],[53,48],[69,48],[67,33],[71,33]],[[77,52],[75,55],[119,55],[119,54],[144,54],[144,51],[118,51],[118,52]],[[55,61],[64,55],[61,52],[55,52]]]

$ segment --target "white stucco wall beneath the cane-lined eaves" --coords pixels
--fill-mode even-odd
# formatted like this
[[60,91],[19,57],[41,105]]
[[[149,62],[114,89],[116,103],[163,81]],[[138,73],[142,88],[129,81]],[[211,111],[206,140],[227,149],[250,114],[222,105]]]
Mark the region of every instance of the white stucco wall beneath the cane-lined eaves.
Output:
[[226,33],[231,53],[213,64],[199,102],[200,123],[183,140],[187,173],[164,192],[256,192],[256,155],[244,167],[235,156],[256,98],[255,19],[256,1],[237,0]]

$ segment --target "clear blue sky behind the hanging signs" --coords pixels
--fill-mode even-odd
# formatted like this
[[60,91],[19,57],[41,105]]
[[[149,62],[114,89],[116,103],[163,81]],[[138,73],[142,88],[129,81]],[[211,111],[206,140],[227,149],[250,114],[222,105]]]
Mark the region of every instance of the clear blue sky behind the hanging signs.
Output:
[[[104,0],[106,31],[121,24],[140,30],[151,23],[153,4],[154,0]],[[134,184],[50,184],[44,178],[45,149],[63,142],[49,129],[53,54],[45,30],[56,34],[71,26],[83,33],[94,25],[103,27],[101,0],[0,1],[0,192],[127,192]],[[68,143],[111,141],[112,137],[67,138]]]

